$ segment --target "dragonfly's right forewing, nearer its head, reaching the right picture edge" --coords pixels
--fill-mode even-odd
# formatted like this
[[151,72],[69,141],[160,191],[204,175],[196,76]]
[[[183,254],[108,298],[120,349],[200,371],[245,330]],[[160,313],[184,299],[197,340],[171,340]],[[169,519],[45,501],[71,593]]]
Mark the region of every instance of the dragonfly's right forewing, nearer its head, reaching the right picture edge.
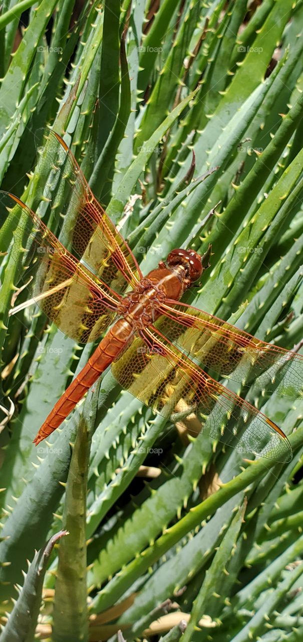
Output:
[[169,342],[217,376],[239,383],[257,379],[267,388],[279,377],[285,394],[297,396],[303,386],[303,355],[266,343],[252,334],[183,303],[161,306],[158,327]]

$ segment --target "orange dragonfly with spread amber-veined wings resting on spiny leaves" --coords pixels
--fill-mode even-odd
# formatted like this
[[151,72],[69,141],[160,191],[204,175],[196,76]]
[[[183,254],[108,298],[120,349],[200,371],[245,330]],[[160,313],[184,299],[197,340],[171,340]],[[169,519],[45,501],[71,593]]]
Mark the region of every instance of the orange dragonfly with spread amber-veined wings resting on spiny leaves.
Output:
[[[24,265],[26,281],[31,278],[31,301],[78,342],[104,336],[45,419],[34,443],[60,426],[111,365],[122,388],[161,415],[177,417],[177,421],[194,415],[202,429],[209,429],[211,438],[242,453],[290,461],[291,446],[282,429],[208,372],[240,383],[257,376],[262,385],[268,377],[272,383],[274,376],[281,375],[284,392],[293,394],[302,385],[303,356],[179,302],[184,291],[201,278],[209,251],[201,257],[194,250],[172,250],[165,262],[160,261],[158,268],[143,277],[126,241],[55,132],[47,134],[47,151],[51,159],[48,184],[53,183],[52,189],[55,185],[60,198],[63,195],[72,216],[64,218],[63,243],[19,198],[2,193],[15,222],[25,220],[25,230],[24,225],[17,227],[14,237],[26,247]],[[44,204],[47,194],[45,186]],[[53,209],[56,207],[54,198]],[[208,372],[202,370],[202,363]]]

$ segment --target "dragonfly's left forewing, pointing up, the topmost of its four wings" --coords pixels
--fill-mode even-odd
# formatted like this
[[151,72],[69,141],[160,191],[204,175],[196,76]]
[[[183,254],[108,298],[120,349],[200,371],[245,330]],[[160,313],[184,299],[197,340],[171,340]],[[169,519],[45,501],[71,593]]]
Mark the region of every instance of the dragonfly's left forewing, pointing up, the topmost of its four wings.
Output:
[[129,284],[135,287],[142,276],[136,259],[90,190],[69,147],[51,130],[44,138],[38,163],[40,174],[48,172],[44,196],[58,210],[57,220],[63,216],[63,245],[115,291],[123,293]]

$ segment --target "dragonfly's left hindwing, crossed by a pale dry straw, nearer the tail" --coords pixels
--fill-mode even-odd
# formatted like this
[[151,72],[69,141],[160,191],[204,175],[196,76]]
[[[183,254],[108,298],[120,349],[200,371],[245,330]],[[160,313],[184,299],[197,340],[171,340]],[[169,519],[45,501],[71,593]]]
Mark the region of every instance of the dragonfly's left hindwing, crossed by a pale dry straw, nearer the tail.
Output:
[[[19,198],[1,192],[0,204],[15,228],[12,256],[20,267],[15,285],[29,284],[33,300],[67,336],[94,341],[115,317],[120,296],[81,265]],[[0,238],[6,254],[5,234]]]

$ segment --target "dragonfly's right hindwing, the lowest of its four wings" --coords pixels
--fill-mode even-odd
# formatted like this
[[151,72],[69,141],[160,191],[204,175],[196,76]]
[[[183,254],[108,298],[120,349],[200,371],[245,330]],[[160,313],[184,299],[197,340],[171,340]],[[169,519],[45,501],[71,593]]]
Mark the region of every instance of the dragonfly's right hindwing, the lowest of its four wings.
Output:
[[199,369],[156,327],[141,334],[111,366],[123,388],[165,417],[194,413],[210,437],[241,453],[291,460],[290,443],[274,422]]

